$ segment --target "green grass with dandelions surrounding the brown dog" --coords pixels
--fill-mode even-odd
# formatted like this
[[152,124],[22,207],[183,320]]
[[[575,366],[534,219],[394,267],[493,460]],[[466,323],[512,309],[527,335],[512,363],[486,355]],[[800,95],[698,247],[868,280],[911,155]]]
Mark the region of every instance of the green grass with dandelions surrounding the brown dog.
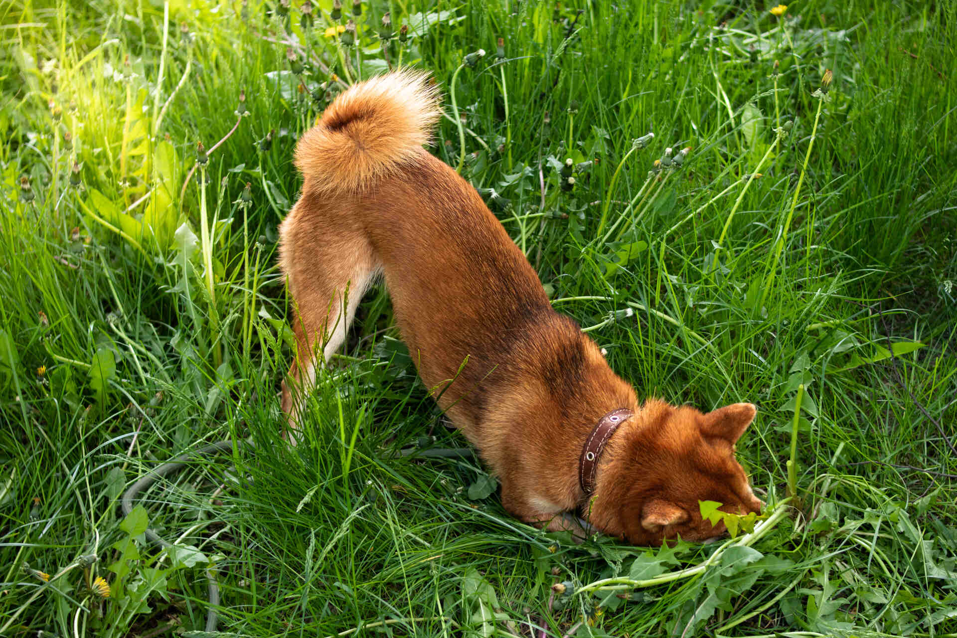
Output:
[[[0,8],[0,634],[201,631],[214,565],[230,635],[957,635],[952,3],[373,0],[361,53],[323,35],[330,2],[305,32],[274,4]],[[738,453],[770,503],[796,425],[767,534],[576,546],[478,461],[398,454],[464,440],[381,289],[278,442],[291,153],[329,73],[385,66],[384,11],[389,61],[447,94],[487,52],[434,152],[639,395],[756,403]],[[650,174],[666,147],[690,151]]]

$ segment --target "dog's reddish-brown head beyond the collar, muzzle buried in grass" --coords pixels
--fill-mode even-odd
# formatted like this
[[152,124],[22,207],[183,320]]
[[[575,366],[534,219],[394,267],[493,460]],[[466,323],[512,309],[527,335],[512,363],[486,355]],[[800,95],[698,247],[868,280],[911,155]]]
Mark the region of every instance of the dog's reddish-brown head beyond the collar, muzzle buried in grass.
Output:
[[659,545],[726,532],[723,522],[701,518],[702,500],[718,501],[731,514],[760,512],[762,503],[734,458],[735,443],[754,414],[751,404],[703,414],[694,407],[646,403],[635,422],[612,437],[590,503],[592,524],[636,545]]

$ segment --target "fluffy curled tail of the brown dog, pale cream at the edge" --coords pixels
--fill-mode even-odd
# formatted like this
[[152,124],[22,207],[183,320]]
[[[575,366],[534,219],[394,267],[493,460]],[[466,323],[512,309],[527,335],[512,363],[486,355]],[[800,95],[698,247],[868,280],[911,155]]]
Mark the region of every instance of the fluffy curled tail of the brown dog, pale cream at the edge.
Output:
[[414,158],[440,116],[438,90],[428,74],[373,77],[325,109],[300,138],[296,166],[314,191],[361,192]]

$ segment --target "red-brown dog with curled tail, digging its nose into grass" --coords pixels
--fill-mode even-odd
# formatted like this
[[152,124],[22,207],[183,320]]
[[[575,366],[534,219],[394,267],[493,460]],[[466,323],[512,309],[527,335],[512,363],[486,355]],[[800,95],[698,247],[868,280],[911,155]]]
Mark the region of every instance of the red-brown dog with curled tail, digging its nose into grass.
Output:
[[381,274],[422,381],[516,517],[580,532],[563,516],[577,513],[645,545],[723,534],[699,500],[759,511],[734,459],[754,406],[639,407],[595,343],[552,310],[475,188],[422,148],[439,117],[425,75],[393,73],[345,91],[300,139],[302,193],[280,227],[298,348],[282,391],[290,425]]

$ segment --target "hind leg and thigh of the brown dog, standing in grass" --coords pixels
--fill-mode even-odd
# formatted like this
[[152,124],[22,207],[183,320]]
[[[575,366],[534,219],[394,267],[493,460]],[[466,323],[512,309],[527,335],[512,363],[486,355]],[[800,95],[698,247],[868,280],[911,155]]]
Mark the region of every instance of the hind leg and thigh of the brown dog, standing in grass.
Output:
[[380,264],[358,231],[310,232],[317,229],[303,229],[309,221],[296,224],[294,214],[287,222],[280,229],[280,264],[293,297],[296,359],[282,384],[282,410],[290,428],[299,429],[298,412],[315,383],[316,369],[342,347]]

